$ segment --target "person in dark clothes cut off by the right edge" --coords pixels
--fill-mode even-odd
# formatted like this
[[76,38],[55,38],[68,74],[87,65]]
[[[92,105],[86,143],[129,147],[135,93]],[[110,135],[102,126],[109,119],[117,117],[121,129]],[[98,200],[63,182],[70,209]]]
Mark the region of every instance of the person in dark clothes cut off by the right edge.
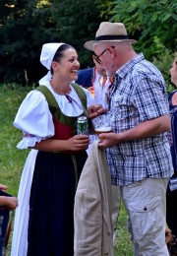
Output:
[[[177,87],[177,59],[175,59],[172,64],[170,74],[171,82]],[[166,222],[171,229],[172,234],[177,237],[177,208],[175,207],[177,202],[177,90],[174,90],[168,98],[171,113],[171,131],[168,134],[168,138],[170,142],[174,174],[170,178],[166,193]],[[172,183],[174,186],[172,186]]]

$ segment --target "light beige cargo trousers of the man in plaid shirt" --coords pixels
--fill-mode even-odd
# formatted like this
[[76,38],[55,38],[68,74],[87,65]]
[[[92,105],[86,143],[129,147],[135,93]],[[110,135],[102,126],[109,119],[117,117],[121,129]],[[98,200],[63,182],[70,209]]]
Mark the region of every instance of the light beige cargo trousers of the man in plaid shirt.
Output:
[[167,178],[148,178],[121,187],[137,256],[167,256],[165,243]]

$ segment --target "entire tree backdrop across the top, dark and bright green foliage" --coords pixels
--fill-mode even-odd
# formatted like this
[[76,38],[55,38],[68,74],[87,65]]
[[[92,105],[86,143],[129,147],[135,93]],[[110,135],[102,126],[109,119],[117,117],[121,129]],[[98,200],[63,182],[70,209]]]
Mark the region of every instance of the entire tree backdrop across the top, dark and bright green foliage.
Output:
[[[135,49],[157,63],[161,55],[176,51],[176,9],[176,0],[1,0],[1,82],[37,84],[46,72],[39,63],[41,46],[50,41],[72,44],[81,68],[92,66],[84,43],[103,21],[123,22],[138,40]],[[161,68],[167,77],[165,58]]]

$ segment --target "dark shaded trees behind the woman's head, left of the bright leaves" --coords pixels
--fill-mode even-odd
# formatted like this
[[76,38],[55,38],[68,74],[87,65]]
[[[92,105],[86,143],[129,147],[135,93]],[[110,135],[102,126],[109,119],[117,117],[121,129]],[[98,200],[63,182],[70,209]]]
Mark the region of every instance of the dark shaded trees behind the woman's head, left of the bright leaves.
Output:
[[[92,66],[83,45],[100,22],[111,17],[112,1],[2,0],[0,77],[4,83],[37,83],[46,70],[39,63],[41,45],[64,41],[76,47],[82,68]],[[103,12],[107,10],[107,13]]]

